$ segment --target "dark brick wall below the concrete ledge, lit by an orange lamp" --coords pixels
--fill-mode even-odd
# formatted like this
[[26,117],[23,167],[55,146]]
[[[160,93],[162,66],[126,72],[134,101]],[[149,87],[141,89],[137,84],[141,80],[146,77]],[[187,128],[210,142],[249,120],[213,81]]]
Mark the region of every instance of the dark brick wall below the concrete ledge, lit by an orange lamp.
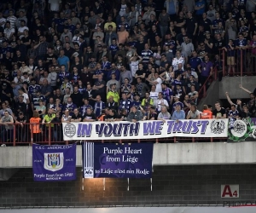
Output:
[[[0,207],[255,202],[255,164],[155,166],[152,192],[149,179],[130,179],[130,191],[127,179],[106,179],[104,191],[102,178],[83,184],[80,168],[77,173],[77,181],[34,182],[32,169],[20,169],[9,181],[0,181]],[[221,184],[239,184],[240,198],[221,199]]]

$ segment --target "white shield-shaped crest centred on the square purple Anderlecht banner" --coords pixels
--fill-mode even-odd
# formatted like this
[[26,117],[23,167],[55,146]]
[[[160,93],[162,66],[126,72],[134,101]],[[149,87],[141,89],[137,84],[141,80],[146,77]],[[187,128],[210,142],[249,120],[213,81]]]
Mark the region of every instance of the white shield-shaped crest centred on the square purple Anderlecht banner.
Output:
[[44,169],[57,171],[63,168],[64,155],[63,153],[44,153]]

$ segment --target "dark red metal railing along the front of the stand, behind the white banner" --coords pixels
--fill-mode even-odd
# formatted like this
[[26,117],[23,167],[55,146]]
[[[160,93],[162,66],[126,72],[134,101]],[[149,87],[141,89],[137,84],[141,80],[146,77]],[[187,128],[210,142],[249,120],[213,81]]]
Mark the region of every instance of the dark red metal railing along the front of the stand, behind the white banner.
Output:
[[[40,132],[34,133],[33,127],[39,125]],[[63,141],[62,124],[13,124],[12,130],[6,130],[5,125],[0,125],[0,145],[6,146],[31,146],[33,143],[42,145],[67,145],[72,143],[80,143],[81,141]],[[86,141],[90,139],[86,138]],[[116,143],[177,143],[177,142],[214,142],[214,141],[227,141],[227,138],[196,138],[196,137],[169,137],[169,138],[156,138],[156,139],[125,139],[92,142],[116,142]]]

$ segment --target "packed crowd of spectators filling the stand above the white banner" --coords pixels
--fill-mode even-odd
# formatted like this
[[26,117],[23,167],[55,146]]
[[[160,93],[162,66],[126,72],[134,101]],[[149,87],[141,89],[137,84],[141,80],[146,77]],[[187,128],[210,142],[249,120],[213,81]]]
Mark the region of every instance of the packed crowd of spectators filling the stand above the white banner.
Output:
[[[197,109],[198,91],[223,73],[219,49],[234,75],[235,49],[256,48],[254,9],[253,0],[1,1],[2,139],[29,121],[229,117],[219,103]],[[241,111],[232,116],[245,116],[231,102]]]

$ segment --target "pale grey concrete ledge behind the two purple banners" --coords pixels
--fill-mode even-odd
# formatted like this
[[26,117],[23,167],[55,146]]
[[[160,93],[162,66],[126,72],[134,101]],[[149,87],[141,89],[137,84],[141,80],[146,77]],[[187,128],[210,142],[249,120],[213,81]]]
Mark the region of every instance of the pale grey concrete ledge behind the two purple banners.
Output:
[[[77,146],[77,166],[82,150]],[[254,164],[255,142],[202,142],[154,144],[154,165],[168,164]],[[32,167],[32,147],[0,147],[0,168]]]

